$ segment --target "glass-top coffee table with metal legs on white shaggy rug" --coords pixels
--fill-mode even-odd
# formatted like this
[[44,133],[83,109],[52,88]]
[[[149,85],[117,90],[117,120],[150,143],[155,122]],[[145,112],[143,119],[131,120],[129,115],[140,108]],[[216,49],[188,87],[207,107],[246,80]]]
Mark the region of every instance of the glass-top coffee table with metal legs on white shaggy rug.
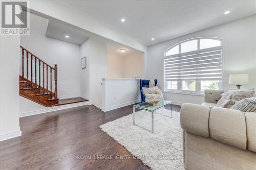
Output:
[[170,117],[173,118],[173,105],[172,105],[172,102],[170,101],[162,100],[153,104],[143,102],[137,105],[133,105],[133,125],[135,125],[135,108],[151,112],[151,120],[152,120],[151,132],[154,133],[154,113],[156,112],[157,109],[160,109],[161,107],[164,107],[166,105],[170,105]]

